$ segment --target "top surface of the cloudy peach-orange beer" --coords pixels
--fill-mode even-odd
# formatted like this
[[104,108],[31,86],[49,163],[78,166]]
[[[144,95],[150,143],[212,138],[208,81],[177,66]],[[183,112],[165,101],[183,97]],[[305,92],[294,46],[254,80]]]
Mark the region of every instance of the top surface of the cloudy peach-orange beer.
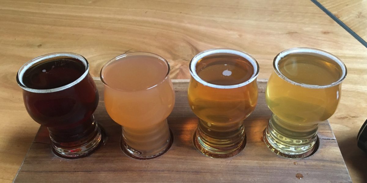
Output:
[[106,67],[102,78],[107,85],[121,90],[143,90],[163,81],[168,66],[152,56],[127,56]]

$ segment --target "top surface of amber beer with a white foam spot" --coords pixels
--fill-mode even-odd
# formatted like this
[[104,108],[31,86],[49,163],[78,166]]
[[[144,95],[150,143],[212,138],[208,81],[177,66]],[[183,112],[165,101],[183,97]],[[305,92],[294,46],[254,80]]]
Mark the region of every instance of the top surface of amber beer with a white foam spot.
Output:
[[214,85],[236,85],[246,82],[254,74],[254,67],[236,55],[208,56],[196,64],[196,73]]

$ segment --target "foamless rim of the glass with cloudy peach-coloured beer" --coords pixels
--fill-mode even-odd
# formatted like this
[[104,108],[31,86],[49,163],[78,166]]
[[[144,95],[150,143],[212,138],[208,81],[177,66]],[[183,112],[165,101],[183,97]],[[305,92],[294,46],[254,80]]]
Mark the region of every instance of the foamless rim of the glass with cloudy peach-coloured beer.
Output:
[[[126,56],[136,56],[136,55],[145,55],[145,56],[152,56],[152,57],[155,57],[157,58],[158,60],[161,60],[161,61],[164,61],[164,63],[167,64],[167,74],[163,77],[162,80],[160,80],[159,82],[153,84],[153,86],[150,86],[148,87],[147,89],[139,89],[139,90],[126,90],[126,89],[119,89],[119,88],[115,88],[115,87],[112,87],[110,85],[108,85],[104,80],[103,80],[103,77],[102,77],[102,71],[105,70],[105,68],[113,63],[114,61],[117,61],[121,58],[124,58]],[[166,59],[164,59],[163,57],[155,54],[155,53],[150,53],[150,52],[131,52],[131,53],[124,53],[122,55],[119,55],[119,56],[116,56],[115,58],[111,59],[110,61],[108,61],[107,63],[105,63],[102,68],[101,68],[101,71],[99,72],[99,78],[101,78],[101,81],[103,83],[104,86],[107,86],[113,90],[118,90],[118,91],[131,91],[131,92],[135,92],[135,91],[142,91],[142,90],[149,90],[149,89],[152,89],[158,85],[160,85],[161,83],[163,83],[164,81],[167,80],[167,78],[169,77],[169,74],[170,74],[170,70],[171,70],[171,67],[170,67],[170,64],[168,63],[168,61]]]

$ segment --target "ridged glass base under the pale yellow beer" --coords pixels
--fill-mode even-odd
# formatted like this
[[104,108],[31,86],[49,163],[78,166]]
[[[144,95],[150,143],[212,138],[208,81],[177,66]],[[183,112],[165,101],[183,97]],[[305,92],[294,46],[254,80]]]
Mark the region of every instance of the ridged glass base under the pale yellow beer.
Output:
[[315,152],[317,124],[296,126],[280,120],[273,114],[264,130],[263,139],[266,146],[281,157],[305,158]]

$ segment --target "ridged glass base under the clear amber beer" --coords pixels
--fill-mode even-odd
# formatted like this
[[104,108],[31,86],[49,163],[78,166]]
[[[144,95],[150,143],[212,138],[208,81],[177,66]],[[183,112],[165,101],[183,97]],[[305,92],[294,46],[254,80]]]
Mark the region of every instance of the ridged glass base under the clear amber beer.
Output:
[[[212,158],[229,158],[243,150],[246,145],[243,121],[235,126],[218,129],[208,124],[210,123],[199,118],[198,127],[193,135],[194,146],[200,153]],[[223,128],[232,130],[219,131]]]

